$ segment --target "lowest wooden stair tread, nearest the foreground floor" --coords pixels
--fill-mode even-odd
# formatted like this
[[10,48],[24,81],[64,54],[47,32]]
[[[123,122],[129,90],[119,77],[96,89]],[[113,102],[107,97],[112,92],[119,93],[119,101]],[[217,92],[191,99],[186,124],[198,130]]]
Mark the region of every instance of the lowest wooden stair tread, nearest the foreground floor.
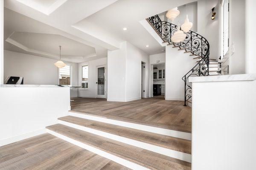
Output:
[[48,126],[47,129],[134,162],[135,164],[147,167],[151,170],[191,170],[191,163],[189,162],[164,156],[122,142],[117,142],[73,127],[56,124]]

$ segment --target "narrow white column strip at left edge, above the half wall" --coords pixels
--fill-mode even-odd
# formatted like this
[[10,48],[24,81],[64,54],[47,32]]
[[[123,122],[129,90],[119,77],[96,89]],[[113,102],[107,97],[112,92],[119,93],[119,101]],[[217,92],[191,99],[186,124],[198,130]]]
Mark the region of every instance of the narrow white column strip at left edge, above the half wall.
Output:
[[0,1],[0,85],[3,84],[3,0]]

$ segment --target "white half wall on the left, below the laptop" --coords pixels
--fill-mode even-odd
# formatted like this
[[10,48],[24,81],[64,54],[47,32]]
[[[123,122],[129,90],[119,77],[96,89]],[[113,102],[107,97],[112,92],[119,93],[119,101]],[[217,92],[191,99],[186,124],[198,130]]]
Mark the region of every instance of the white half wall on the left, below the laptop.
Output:
[[70,107],[69,87],[0,87],[0,94],[0,146],[46,132]]

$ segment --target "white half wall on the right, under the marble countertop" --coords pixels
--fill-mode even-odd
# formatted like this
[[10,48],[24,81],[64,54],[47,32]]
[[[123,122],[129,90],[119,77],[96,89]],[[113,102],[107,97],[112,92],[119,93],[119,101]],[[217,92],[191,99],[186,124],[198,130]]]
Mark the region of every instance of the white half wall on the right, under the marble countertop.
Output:
[[256,170],[255,87],[256,80],[192,83],[192,170]]

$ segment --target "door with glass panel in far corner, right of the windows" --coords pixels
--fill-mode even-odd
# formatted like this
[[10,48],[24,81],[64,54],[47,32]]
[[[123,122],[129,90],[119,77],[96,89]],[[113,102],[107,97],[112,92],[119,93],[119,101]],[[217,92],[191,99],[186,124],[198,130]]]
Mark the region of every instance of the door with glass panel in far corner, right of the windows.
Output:
[[105,65],[97,66],[97,82],[96,82],[96,93],[97,98],[106,98],[106,87],[105,87]]

